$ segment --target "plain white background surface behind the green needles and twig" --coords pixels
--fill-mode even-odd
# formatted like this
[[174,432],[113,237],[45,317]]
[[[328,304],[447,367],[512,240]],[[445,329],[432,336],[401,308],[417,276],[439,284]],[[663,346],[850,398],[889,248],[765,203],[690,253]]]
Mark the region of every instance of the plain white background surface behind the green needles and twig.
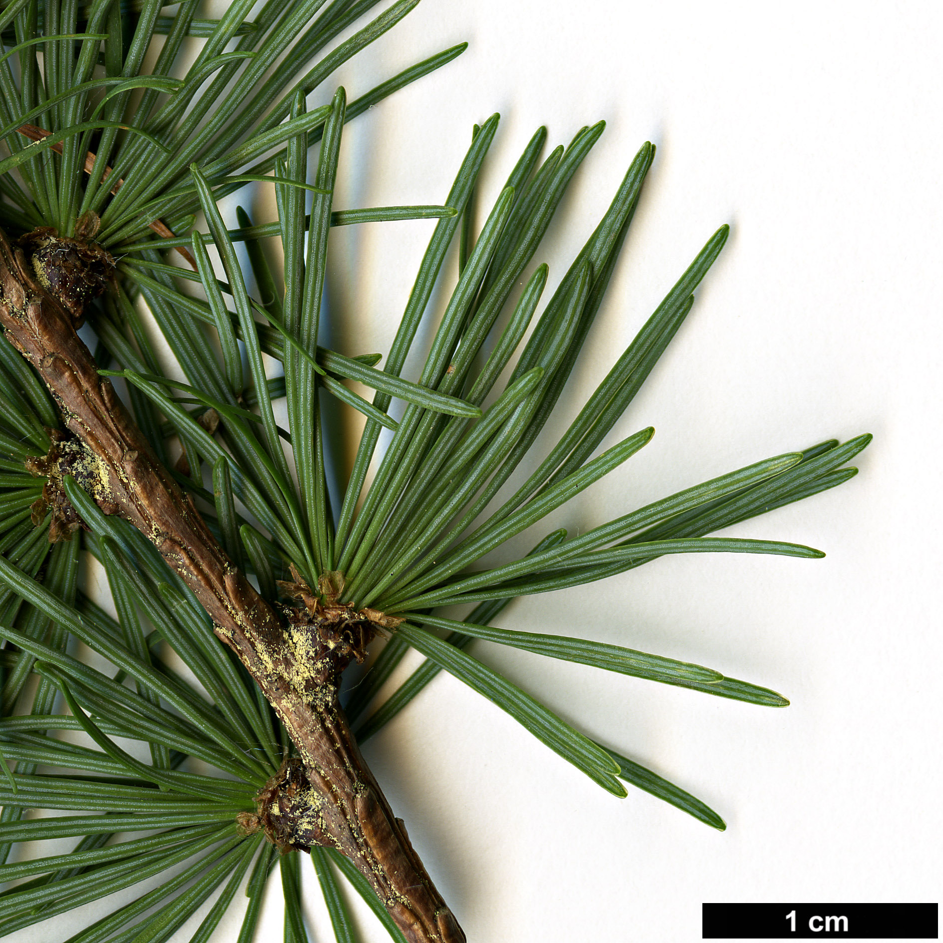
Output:
[[[941,21],[920,2],[425,0],[312,95],[326,101],[342,82],[356,98],[470,41],[347,126],[335,206],[443,201],[472,123],[497,110],[479,222],[539,124],[549,152],[605,119],[538,250],[545,299],[638,146],[656,144],[543,451],[703,242],[732,225],[606,444],[650,424],[653,441],[523,535],[521,550],[551,526],[575,533],[769,455],[875,436],[850,483],[729,531],[807,543],[823,560],[666,557],[520,600],[497,620],[706,664],[783,692],[785,710],[473,650],[702,798],[725,833],[632,787],[609,796],[445,675],[367,745],[471,943],[696,940],[702,902],[939,899]],[[339,349],[386,352],[431,230],[335,230]],[[454,273],[454,256],[448,265]],[[303,870],[313,938],[331,939]],[[277,881],[270,890],[256,937],[266,943],[281,935]],[[388,939],[352,905],[365,943]],[[227,941],[241,904],[231,916]]]

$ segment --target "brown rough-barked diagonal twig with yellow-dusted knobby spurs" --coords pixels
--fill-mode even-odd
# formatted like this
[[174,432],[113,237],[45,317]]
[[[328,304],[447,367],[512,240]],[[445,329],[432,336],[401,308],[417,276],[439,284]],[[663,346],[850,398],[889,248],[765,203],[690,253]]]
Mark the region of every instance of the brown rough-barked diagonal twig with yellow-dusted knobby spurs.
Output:
[[280,620],[223,553],[111,383],[98,375],[68,306],[43,288],[23,248],[0,230],[0,323],[84,443],[92,497],[137,527],[186,580],[298,750],[260,797],[257,821],[242,824],[263,827],[282,849],[330,845],[347,855],[410,943],[463,943],[339,706],[340,673],[372,638],[377,614],[312,597],[306,610]]

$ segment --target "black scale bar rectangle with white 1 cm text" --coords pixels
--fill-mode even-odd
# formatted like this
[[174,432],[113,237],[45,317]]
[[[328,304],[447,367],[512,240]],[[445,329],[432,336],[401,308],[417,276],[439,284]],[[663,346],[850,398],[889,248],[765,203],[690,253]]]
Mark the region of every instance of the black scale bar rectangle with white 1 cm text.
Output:
[[709,939],[925,939],[937,936],[935,903],[704,903]]

